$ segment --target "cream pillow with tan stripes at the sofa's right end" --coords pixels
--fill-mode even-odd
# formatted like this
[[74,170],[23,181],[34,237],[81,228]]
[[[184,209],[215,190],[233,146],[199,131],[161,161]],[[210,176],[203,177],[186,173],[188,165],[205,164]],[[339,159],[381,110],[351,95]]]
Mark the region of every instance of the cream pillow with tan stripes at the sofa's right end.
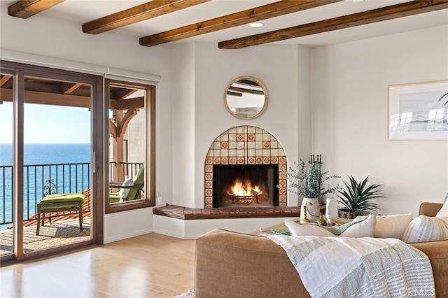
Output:
[[416,243],[446,239],[448,239],[448,218],[430,218],[420,215],[409,223],[401,240],[406,243]]

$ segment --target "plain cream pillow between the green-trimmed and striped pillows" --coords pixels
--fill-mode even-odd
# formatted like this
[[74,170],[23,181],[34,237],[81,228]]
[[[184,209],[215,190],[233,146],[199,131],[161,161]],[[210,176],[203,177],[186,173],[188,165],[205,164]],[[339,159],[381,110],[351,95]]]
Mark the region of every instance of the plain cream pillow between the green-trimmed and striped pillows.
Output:
[[406,228],[412,218],[412,213],[382,216],[378,215],[374,237],[402,239],[402,236],[405,234]]

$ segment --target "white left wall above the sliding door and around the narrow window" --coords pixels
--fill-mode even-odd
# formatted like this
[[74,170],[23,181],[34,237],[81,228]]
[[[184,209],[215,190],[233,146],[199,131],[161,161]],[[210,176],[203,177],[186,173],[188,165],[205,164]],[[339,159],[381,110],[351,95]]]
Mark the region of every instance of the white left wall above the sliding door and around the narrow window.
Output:
[[[83,34],[81,25],[39,13],[27,20],[10,17],[8,3],[0,3],[0,48],[110,66],[162,76],[158,84],[156,191],[172,197],[172,60],[165,45],[147,48],[132,36]],[[152,208],[107,214],[104,241],[109,242],[153,230]]]

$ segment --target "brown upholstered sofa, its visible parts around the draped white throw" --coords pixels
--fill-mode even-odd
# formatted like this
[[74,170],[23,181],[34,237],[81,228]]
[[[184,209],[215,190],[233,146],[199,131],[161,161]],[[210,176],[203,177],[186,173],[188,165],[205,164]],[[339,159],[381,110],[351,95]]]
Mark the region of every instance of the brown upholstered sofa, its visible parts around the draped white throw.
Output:
[[[423,203],[434,216],[442,204]],[[412,244],[428,255],[437,297],[448,297],[448,240]],[[196,240],[195,297],[309,297],[283,248],[256,235],[214,229]]]

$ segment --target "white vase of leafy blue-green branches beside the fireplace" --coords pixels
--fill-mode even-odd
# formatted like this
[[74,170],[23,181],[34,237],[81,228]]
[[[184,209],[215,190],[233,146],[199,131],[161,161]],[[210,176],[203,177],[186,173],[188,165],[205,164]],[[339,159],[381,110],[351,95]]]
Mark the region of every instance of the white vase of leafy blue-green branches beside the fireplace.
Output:
[[290,181],[288,191],[303,197],[300,219],[303,219],[304,213],[307,212],[307,218],[312,222],[316,222],[320,213],[318,198],[339,189],[339,185],[323,187],[323,182],[339,176],[329,176],[328,171],[322,171],[321,157],[322,155],[311,155],[311,159],[306,163],[300,159],[286,171]]

